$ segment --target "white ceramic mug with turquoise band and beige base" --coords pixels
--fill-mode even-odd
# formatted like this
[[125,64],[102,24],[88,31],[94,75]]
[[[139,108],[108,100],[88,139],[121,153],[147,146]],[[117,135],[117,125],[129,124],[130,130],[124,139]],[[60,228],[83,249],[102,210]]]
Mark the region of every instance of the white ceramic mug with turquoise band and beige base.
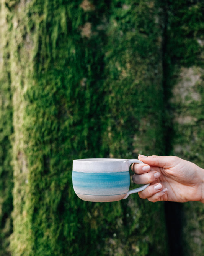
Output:
[[77,196],[84,201],[113,202],[126,199],[149,186],[129,190],[129,168],[138,159],[87,158],[73,160],[72,183]]

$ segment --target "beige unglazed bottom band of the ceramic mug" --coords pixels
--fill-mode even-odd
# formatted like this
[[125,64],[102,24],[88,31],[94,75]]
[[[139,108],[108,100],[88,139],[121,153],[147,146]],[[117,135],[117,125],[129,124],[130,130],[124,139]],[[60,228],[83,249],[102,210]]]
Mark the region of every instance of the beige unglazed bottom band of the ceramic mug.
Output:
[[77,196],[84,200],[84,201],[89,201],[89,202],[115,202],[123,199],[127,193],[125,194],[119,194],[115,196],[90,196],[86,194],[78,194],[76,193]]

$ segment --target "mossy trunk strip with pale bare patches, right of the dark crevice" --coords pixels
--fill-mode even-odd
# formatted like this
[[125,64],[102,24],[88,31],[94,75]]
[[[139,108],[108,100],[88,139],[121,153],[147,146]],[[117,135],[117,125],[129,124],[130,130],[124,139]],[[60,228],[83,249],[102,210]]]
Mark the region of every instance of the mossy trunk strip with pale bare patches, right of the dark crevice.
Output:
[[[204,167],[204,17],[201,1],[174,1],[168,6],[166,31],[166,86],[172,124],[170,154]],[[180,245],[183,255],[203,255],[203,214],[201,203],[175,204],[180,210]]]

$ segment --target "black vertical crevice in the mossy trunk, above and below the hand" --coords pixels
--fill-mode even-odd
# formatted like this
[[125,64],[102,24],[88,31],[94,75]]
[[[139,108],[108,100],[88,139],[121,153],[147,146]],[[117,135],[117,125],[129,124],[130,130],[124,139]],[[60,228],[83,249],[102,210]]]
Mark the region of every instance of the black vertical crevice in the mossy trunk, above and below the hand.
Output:
[[[162,47],[162,65],[163,65],[163,93],[164,93],[164,128],[165,128],[165,152],[164,155],[171,155],[173,150],[172,138],[173,138],[173,125],[172,115],[169,105],[169,99],[171,98],[171,75],[173,72],[173,63],[171,61],[170,54],[168,53],[168,13],[171,3],[168,0],[163,2],[163,47]],[[166,229],[168,233],[168,244],[170,256],[184,256],[183,242],[182,242],[182,230],[183,230],[183,205],[182,203],[165,202],[165,218]]]

